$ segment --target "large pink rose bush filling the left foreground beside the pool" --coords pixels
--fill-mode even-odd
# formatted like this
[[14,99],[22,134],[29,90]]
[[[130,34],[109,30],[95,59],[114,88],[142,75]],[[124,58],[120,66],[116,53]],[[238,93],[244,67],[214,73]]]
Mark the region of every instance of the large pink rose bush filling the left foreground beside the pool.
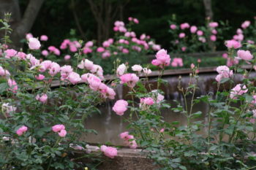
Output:
[[[78,69],[38,60],[34,55],[41,44],[34,37],[28,40],[29,53],[9,49],[8,18],[0,22],[5,31],[0,44],[1,169],[94,169],[90,163],[79,163],[74,154],[88,146],[81,136],[96,133],[84,127],[86,117],[99,112],[97,104],[116,95],[102,82],[102,67],[90,61],[77,63]],[[41,41],[45,40],[42,36]],[[110,147],[104,153],[113,158],[116,149]]]

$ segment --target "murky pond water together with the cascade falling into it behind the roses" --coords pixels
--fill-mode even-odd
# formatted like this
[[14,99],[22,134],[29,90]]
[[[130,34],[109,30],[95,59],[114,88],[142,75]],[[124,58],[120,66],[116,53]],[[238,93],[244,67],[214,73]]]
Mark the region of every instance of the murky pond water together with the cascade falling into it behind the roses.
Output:
[[[200,79],[198,80],[199,89],[197,90],[197,96],[205,95],[206,93],[212,92],[216,93],[217,87],[215,82],[215,77],[217,74],[205,74],[200,75]],[[255,73],[252,74],[255,76]],[[184,106],[184,98],[182,97],[181,93],[178,93],[177,85],[178,85],[178,76],[176,77],[167,77],[167,85],[162,86],[161,89],[165,92],[165,100],[174,107],[173,100],[177,100],[181,102],[181,105]],[[238,83],[241,80],[241,75],[237,75],[235,82]],[[151,80],[154,82],[154,80]],[[183,76],[181,80],[181,85],[186,88],[189,82],[189,76]],[[154,86],[153,86],[154,87]],[[229,87],[229,86],[228,86]],[[155,88],[153,88],[155,89]],[[127,99],[127,89],[123,88],[119,85],[116,88],[117,98]],[[124,122],[124,118],[128,117],[129,112],[125,112],[124,116],[116,115],[112,111],[112,107],[115,101],[107,102],[105,105],[99,107],[102,114],[101,115],[94,115],[93,117],[89,117],[86,122],[86,128],[95,129],[98,134],[89,134],[88,136],[84,136],[87,142],[91,143],[105,143],[111,142],[112,144],[124,144],[123,140],[121,140],[118,136],[121,132],[129,131],[127,129],[127,123]],[[189,101],[190,103],[190,101]],[[201,111],[203,112],[202,117],[200,120],[207,120],[206,113],[208,112],[208,106],[206,104],[200,103],[195,105],[193,112]],[[178,121],[181,125],[186,125],[187,120],[181,113],[172,112],[170,109],[163,109],[162,115],[165,117],[167,122]]]

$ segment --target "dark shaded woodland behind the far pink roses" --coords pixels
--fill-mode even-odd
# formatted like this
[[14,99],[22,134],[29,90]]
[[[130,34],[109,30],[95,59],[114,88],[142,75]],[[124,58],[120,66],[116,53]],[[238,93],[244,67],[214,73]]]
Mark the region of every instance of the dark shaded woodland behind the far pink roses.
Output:
[[[29,0],[0,0],[1,3],[18,2],[20,18],[24,18]],[[113,22],[128,17],[138,18],[140,24],[133,27],[137,34],[146,33],[156,39],[162,47],[168,48],[168,20],[176,15],[177,23],[188,22],[190,25],[203,25],[206,9],[203,1],[210,1],[213,20],[228,22],[232,28],[226,36],[233,36],[236,28],[244,20],[254,20],[256,1],[253,0],[33,0],[38,14],[32,13],[34,21],[27,29],[34,36],[46,34],[50,37],[48,45],[59,46],[65,38],[72,37],[70,30],[75,30],[78,39],[97,39],[99,42],[113,35]],[[39,2],[35,2],[39,1]],[[38,5],[42,2],[42,5]],[[14,3],[14,2],[12,2]],[[10,3],[10,4],[12,4]],[[100,10],[101,9],[101,10]],[[17,10],[15,10],[17,11]],[[100,15],[102,13],[102,15]],[[97,16],[96,16],[97,15]],[[15,25],[15,24],[14,24]],[[73,31],[74,34],[74,31]],[[17,41],[17,39],[15,40]]]

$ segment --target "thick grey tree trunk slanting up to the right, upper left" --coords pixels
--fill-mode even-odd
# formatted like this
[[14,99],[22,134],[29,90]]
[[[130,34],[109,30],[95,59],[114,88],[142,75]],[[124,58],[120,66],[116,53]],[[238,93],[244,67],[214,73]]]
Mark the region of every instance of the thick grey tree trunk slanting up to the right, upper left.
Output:
[[29,5],[26,7],[26,11],[22,19],[18,22],[17,25],[12,26],[13,31],[11,35],[12,47],[18,48],[22,47],[20,39],[23,39],[25,34],[31,30],[31,27],[34,24],[34,20],[37,18],[39,9],[42,6],[42,3],[45,0],[30,0]]

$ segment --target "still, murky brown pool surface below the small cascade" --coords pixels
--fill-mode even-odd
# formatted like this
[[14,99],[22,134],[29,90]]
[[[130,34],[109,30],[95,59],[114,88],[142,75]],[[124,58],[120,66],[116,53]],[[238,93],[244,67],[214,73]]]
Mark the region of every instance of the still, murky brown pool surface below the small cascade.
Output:
[[[174,102],[169,102],[172,107],[174,107]],[[86,128],[95,129],[98,134],[89,134],[85,136],[87,142],[91,143],[105,143],[111,142],[112,144],[122,145],[124,141],[118,137],[118,134],[121,132],[128,131],[127,123],[124,122],[124,117],[129,116],[129,112],[125,112],[123,116],[116,115],[111,108],[113,104],[108,103],[106,107],[100,107],[99,109],[102,111],[102,115],[94,115],[86,120],[85,126]],[[193,112],[201,111],[203,113],[207,112],[206,104],[197,104],[195,105]],[[178,121],[181,125],[186,125],[187,119],[186,117],[179,113],[173,112],[170,109],[163,109],[162,116],[165,118],[167,122]],[[204,120],[205,114],[202,115],[200,120]]]

